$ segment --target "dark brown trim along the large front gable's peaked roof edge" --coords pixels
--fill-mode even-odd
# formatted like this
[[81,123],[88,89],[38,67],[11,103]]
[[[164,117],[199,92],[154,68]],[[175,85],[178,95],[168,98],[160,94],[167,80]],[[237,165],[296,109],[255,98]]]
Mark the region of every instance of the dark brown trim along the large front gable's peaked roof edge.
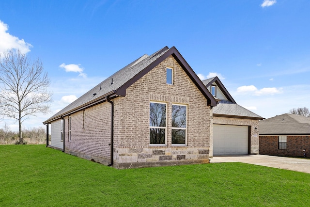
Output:
[[[162,50],[158,51],[157,54],[160,54],[161,52],[163,52],[167,49],[169,49],[169,48],[166,46]],[[157,54],[155,54],[155,56]],[[203,96],[206,97],[206,99],[208,100],[208,105],[209,106],[217,106],[217,101],[215,100],[215,98],[211,95],[211,93],[208,91],[208,89],[205,87],[205,85],[198,78],[196,73],[189,66],[189,64],[187,64],[186,60],[182,57],[182,55],[179,53],[179,51],[175,47],[170,48],[163,55],[161,55],[158,59],[156,59],[153,63],[149,64],[146,68],[144,68],[135,77],[133,77],[131,80],[128,80],[124,85],[122,85],[120,88],[118,88],[116,90],[116,94],[119,96],[125,96],[126,95],[126,89],[129,86],[131,86],[133,83],[135,83],[137,80],[139,80],[142,76],[147,74],[150,70],[152,70],[155,66],[160,64],[162,61],[164,61],[170,55],[172,55],[176,59],[176,61],[181,65],[181,67],[184,69],[186,74],[189,76],[189,78],[195,83],[195,85],[202,92]]]

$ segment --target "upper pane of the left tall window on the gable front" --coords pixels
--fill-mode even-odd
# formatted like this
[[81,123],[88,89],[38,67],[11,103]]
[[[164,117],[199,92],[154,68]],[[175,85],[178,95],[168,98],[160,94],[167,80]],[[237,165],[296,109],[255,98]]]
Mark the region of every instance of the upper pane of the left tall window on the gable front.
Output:
[[150,103],[150,127],[166,127],[166,104]]

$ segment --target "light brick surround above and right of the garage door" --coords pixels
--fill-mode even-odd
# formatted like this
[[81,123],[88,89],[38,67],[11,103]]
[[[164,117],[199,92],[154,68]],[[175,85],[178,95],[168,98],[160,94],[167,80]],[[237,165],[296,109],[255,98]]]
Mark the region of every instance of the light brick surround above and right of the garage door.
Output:
[[[257,155],[259,153],[259,128],[258,120],[213,117],[213,124],[250,126],[250,154]],[[256,128],[256,129],[255,129]]]

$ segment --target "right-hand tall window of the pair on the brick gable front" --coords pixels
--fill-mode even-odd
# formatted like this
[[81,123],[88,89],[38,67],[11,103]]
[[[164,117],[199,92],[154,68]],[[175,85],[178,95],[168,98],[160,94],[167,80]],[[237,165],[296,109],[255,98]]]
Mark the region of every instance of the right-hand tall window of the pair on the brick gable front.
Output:
[[172,144],[186,144],[186,106],[172,105]]

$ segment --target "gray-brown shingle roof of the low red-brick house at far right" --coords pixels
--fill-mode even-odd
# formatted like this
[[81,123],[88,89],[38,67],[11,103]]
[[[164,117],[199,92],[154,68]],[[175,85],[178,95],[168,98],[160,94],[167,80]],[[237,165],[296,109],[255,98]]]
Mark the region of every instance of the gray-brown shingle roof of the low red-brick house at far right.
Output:
[[261,134],[310,134],[310,118],[284,113],[259,122]]

